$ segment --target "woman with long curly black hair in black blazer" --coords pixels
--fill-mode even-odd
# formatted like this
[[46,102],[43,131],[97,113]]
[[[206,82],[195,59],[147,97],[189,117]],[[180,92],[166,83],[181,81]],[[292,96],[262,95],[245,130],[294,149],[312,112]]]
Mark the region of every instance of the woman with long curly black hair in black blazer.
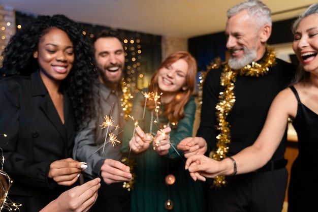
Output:
[[0,133],[9,198],[20,211],[39,211],[75,185],[85,164],[72,159],[79,124],[90,117],[93,58],[79,24],[39,16],[4,50],[0,70]]

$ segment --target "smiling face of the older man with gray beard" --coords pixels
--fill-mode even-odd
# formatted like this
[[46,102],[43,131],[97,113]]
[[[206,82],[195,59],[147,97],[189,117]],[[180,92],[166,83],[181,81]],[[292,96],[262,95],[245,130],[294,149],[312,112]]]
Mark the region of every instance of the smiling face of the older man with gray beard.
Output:
[[230,17],[226,25],[227,48],[230,51],[229,66],[240,69],[260,59],[264,51],[260,40],[260,32],[252,22],[246,10]]

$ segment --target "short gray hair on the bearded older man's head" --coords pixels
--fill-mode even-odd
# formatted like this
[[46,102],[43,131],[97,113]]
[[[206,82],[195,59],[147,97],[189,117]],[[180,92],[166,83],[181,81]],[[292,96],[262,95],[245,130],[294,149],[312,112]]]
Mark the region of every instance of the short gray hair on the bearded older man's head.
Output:
[[230,8],[227,12],[228,18],[238,14],[242,10],[247,10],[247,13],[252,17],[257,24],[256,28],[261,28],[265,24],[272,26],[271,10],[261,1],[248,0]]

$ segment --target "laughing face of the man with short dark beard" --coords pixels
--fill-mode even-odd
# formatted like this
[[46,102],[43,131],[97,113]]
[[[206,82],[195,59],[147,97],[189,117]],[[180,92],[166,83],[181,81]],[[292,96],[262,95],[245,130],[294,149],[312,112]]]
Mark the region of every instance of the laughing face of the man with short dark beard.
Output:
[[115,37],[102,37],[96,40],[94,48],[100,80],[110,87],[118,84],[125,60],[122,43]]

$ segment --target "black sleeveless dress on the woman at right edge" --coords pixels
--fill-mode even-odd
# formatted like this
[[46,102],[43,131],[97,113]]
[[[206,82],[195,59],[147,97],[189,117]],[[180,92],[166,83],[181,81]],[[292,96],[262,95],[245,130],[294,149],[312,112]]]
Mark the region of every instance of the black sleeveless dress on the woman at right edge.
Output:
[[298,136],[299,154],[292,165],[288,211],[318,211],[318,114],[298,101],[293,126]]

